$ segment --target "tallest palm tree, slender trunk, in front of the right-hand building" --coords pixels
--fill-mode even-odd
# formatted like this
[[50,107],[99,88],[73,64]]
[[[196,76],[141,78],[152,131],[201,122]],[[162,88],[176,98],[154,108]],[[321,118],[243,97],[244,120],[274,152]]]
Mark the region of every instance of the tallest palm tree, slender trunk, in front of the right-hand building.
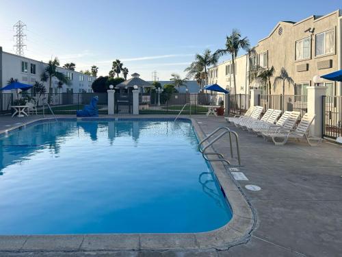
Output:
[[215,51],[214,56],[224,56],[225,54],[230,54],[232,58],[233,64],[233,79],[234,79],[234,93],[237,93],[236,90],[236,76],[235,76],[235,59],[237,58],[237,53],[239,53],[240,49],[244,49],[248,51],[250,48],[250,40],[245,36],[241,38],[241,33],[238,29],[233,29],[233,32],[230,36],[226,36],[226,48],[218,49]]

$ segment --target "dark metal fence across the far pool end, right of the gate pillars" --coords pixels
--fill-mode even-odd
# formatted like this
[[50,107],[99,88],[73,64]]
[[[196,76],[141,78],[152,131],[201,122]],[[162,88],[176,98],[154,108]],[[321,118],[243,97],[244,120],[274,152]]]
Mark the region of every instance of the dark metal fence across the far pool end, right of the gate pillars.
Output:
[[140,114],[178,114],[183,106],[183,114],[203,114],[208,112],[209,106],[220,105],[224,105],[224,94],[153,92],[139,95]]

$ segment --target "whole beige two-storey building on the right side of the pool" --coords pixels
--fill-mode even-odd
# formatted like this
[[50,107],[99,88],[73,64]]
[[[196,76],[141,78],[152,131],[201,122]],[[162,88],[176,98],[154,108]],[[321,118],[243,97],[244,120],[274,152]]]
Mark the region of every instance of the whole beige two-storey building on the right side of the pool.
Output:
[[[274,77],[284,67],[295,82],[285,84],[285,95],[306,95],[307,86],[314,86],[315,75],[325,75],[342,69],[342,15],[337,10],[324,16],[310,16],[302,21],[280,21],[272,32],[259,40],[247,55],[237,58],[237,93],[248,93],[251,88],[261,88],[267,94],[267,86],[249,81],[252,66],[274,66]],[[249,59],[247,62],[247,58]],[[209,69],[209,83],[217,83],[232,89],[231,60]],[[228,72],[227,72],[228,69]],[[282,84],[273,87],[272,95],[282,94]],[[341,82],[322,80],[319,85],[328,87],[326,95],[342,95]]]

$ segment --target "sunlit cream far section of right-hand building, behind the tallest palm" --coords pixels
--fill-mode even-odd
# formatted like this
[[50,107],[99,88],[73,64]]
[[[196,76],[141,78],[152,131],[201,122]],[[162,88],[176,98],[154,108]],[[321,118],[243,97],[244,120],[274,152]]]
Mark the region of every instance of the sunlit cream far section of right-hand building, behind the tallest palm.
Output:
[[[237,94],[248,94],[248,54],[235,60]],[[234,93],[233,64],[231,60],[222,62],[209,69],[208,84],[218,84]]]

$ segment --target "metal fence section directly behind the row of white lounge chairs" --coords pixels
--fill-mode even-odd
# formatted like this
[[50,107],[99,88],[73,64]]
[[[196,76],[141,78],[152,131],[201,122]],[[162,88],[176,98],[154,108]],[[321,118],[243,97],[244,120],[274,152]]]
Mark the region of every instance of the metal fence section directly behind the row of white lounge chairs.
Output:
[[265,111],[274,109],[282,112],[300,112],[300,119],[308,112],[306,95],[260,95],[258,102]]

